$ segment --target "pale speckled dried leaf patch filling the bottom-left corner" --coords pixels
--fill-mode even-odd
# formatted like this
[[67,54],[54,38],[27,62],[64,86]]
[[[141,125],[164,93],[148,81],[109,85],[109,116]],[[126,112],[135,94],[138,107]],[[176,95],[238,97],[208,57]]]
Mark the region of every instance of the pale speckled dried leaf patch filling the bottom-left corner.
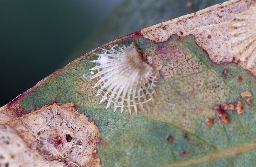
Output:
[[37,150],[30,149],[17,132],[0,125],[0,164],[3,166],[68,166],[64,162],[48,161]]

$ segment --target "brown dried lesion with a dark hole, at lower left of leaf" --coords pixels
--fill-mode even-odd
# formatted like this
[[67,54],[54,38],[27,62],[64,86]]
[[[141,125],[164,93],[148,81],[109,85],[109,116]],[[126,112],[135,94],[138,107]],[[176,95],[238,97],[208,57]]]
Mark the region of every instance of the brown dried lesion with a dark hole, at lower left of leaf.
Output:
[[73,103],[46,105],[0,124],[13,128],[30,150],[46,160],[67,166],[100,166],[100,159],[94,157],[99,129]]

